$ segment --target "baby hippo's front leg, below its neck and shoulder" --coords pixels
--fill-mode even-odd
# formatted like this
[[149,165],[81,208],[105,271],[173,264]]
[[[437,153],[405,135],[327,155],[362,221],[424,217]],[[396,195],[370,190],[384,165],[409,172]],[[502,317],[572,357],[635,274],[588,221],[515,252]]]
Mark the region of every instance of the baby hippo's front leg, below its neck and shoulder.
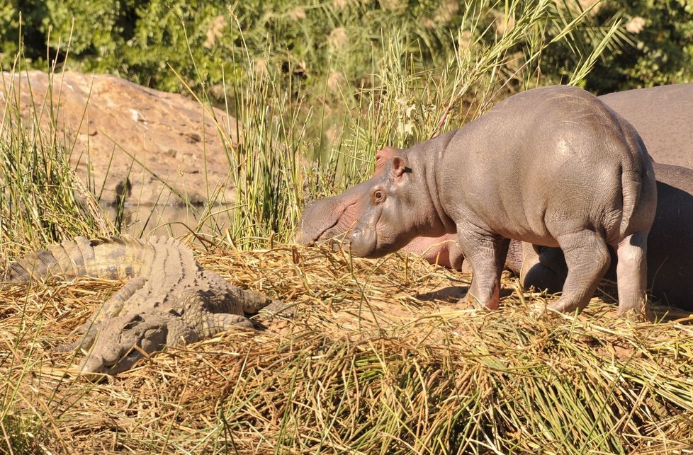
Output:
[[472,284],[467,292],[467,301],[478,308],[498,309],[500,275],[510,245],[509,239],[496,234],[463,231],[459,229],[459,226],[458,237],[473,273]]

